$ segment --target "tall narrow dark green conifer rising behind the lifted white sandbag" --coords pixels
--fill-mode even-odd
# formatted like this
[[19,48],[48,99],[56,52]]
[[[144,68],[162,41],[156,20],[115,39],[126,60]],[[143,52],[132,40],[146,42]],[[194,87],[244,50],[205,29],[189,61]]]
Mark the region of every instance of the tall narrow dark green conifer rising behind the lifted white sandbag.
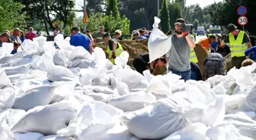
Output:
[[164,0],[162,2],[162,9],[160,10],[160,15],[159,15],[160,19],[161,19],[161,27],[162,27],[162,31],[164,33],[167,33],[171,26],[170,26],[170,15],[169,15],[169,11],[168,11],[168,2],[166,0]]

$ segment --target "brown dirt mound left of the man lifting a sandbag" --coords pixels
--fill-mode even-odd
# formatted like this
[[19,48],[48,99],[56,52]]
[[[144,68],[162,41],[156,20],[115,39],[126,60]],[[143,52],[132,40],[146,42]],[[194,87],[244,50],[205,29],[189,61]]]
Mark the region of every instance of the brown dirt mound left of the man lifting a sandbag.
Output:
[[[120,44],[123,47],[124,51],[127,51],[130,55],[128,65],[133,67],[133,59],[138,57],[139,54],[148,53],[148,41],[149,39],[143,40],[123,40],[120,41]],[[104,43],[97,43],[94,47],[103,48],[104,51],[107,50],[107,45]]]

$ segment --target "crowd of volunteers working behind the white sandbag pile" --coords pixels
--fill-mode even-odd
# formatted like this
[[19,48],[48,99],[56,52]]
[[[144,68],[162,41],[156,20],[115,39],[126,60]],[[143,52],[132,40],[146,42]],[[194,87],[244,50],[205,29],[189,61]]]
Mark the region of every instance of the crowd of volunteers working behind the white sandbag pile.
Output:
[[[150,70],[154,75],[171,72],[181,76],[181,79],[185,81],[189,79],[202,80],[215,75],[225,75],[226,64],[224,57],[228,54],[231,54],[232,64],[236,68],[246,67],[256,61],[256,47],[252,47],[248,34],[238,30],[237,26],[230,23],[228,26],[230,33],[226,36],[213,35],[197,42],[209,53],[204,61],[203,70],[200,70],[197,60],[198,54],[194,50],[197,44],[187,30],[186,20],[182,18],[176,20],[174,29],[174,33],[171,31],[166,33],[166,36],[171,36],[171,49],[165,56],[152,61],[152,63],[149,63],[149,53],[140,54],[138,58],[133,60],[133,67],[139,73],[143,74],[145,70]],[[60,33],[62,33],[62,30],[60,30],[59,26],[56,26],[53,36],[57,36]],[[104,32],[104,26],[100,26],[99,31],[93,35],[91,35],[90,30],[81,32],[78,27],[73,27],[71,33],[70,45],[82,46],[90,53],[94,50],[94,43],[107,45],[107,58],[113,64],[115,64],[114,59],[123,52],[123,47],[119,43],[120,40],[123,40],[121,30],[116,30],[112,37],[110,33]],[[142,28],[134,30],[131,39],[149,39],[150,35],[150,31]],[[0,47],[2,47],[3,42],[13,42],[14,49],[11,54],[15,54],[25,39],[33,40],[35,37],[37,37],[37,33],[34,33],[32,27],[29,28],[27,33],[18,28],[15,28],[12,33],[6,30],[0,36]]]

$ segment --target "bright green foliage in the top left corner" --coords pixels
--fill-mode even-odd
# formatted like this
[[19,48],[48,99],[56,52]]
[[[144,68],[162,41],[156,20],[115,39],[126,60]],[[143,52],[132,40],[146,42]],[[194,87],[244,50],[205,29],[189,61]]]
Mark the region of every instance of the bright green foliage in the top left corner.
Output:
[[5,30],[12,31],[14,27],[24,30],[26,27],[26,16],[21,14],[24,6],[13,0],[0,0],[0,34]]

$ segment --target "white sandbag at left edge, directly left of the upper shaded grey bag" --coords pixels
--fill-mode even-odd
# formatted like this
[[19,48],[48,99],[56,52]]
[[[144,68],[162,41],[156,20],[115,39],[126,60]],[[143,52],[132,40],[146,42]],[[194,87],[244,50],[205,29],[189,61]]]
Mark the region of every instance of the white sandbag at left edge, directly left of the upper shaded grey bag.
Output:
[[11,108],[14,105],[16,94],[17,92],[14,89],[0,89],[0,110]]

